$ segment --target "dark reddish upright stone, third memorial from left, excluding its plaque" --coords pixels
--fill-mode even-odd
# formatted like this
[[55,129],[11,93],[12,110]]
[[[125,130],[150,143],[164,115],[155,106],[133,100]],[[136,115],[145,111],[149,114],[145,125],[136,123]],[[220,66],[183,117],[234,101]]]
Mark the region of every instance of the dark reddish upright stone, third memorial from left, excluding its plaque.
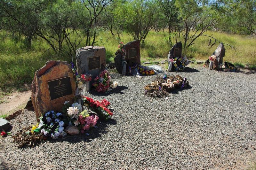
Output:
[[[136,58],[128,58],[128,50],[131,48],[137,48],[137,57]],[[126,72],[128,72],[128,67],[134,64],[140,65],[140,40],[134,40],[132,42],[126,43],[123,45],[123,49],[125,51],[125,61],[127,63],[126,65]],[[122,74],[123,70],[123,59],[121,52],[119,50],[116,51],[116,56],[114,58],[115,60],[115,66],[118,73]]]

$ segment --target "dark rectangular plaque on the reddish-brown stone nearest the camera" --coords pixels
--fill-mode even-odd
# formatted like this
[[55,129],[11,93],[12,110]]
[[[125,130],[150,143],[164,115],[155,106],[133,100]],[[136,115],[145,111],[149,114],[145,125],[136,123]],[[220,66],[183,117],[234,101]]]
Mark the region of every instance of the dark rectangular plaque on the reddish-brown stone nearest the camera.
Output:
[[47,81],[51,100],[72,94],[70,77]]

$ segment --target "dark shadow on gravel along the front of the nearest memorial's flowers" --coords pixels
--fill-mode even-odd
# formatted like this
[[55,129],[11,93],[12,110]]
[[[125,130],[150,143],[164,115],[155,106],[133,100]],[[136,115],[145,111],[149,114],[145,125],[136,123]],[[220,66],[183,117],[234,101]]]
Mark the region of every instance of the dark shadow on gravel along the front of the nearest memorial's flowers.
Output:
[[92,139],[101,137],[101,134],[106,134],[108,132],[107,128],[109,125],[116,125],[116,120],[109,119],[106,122],[100,122],[98,124],[98,128],[92,128],[87,132],[89,135],[86,135],[86,134],[68,135],[62,139],[60,138],[58,140],[51,140],[50,142],[51,143],[54,143],[56,141],[59,141],[59,142],[67,141],[69,143],[78,143],[81,141],[91,142]]

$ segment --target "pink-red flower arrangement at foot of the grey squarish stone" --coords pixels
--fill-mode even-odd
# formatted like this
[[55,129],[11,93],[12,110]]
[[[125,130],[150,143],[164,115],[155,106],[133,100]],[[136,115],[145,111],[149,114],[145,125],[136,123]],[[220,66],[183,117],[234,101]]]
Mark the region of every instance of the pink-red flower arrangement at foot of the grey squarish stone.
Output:
[[96,82],[94,82],[92,86],[94,86],[95,90],[98,92],[106,92],[109,90],[111,84],[110,78],[108,71],[104,70],[94,79]]

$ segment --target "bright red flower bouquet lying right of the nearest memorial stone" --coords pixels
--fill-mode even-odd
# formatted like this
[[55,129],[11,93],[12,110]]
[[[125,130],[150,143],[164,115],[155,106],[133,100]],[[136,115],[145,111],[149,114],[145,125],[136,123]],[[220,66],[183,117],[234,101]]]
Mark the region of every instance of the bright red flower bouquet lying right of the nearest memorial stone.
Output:
[[113,115],[113,113],[108,109],[110,103],[106,99],[95,101],[90,97],[84,97],[83,103],[85,106],[89,107],[90,110],[96,112],[97,115],[103,120],[108,120]]

